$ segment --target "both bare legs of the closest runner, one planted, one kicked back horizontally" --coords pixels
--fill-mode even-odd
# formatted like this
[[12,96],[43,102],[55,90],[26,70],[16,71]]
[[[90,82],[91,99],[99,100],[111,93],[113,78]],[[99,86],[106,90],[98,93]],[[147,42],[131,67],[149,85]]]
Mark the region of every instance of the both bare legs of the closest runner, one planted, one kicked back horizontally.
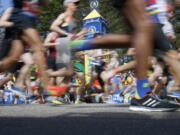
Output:
[[[122,48],[130,47],[132,43],[137,51],[137,78],[147,78],[148,56],[150,56],[153,48],[153,23],[145,11],[145,2],[143,0],[127,0],[124,8],[126,17],[134,28],[133,36],[127,34],[107,35],[92,40],[91,42],[94,46],[92,48],[88,46],[87,48]],[[85,49],[83,44],[81,47]]]

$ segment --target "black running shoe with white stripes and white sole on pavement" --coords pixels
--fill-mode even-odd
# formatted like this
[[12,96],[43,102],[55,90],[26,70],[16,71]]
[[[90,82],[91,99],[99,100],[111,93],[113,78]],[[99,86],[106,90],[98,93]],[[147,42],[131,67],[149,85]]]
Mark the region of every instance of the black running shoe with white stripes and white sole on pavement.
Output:
[[131,99],[131,105],[129,107],[132,111],[143,112],[168,112],[179,109],[179,105],[170,103],[165,100],[161,100],[152,94],[148,94],[142,99]]

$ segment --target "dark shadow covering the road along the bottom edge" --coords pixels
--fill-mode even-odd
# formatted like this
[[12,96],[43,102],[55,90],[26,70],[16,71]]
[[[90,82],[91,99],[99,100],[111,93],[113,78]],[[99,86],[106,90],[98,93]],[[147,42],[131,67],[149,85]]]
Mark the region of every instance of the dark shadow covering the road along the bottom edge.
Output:
[[66,113],[56,117],[0,117],[0,135],[180,135],[179,112]]

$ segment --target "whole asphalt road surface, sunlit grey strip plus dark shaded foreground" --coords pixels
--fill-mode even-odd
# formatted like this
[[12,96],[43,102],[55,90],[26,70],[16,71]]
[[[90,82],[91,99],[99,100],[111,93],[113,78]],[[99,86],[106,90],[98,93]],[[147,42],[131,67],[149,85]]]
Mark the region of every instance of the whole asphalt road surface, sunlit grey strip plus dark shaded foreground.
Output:
[[180,135],[180,110],[132,112],[127,105],[2,105],[0,135]]

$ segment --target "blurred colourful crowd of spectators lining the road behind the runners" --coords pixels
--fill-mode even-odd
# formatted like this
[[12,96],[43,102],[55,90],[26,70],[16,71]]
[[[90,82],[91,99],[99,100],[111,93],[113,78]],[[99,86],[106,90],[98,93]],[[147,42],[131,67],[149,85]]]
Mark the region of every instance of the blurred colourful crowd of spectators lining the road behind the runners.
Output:
[[[85,70],[89,70],[85,68],[86,56],[91,58],[89,64],[91,71],[88,74],[85,72]],[[171,67],[161,58],[153,57],[151,59],[147,74],[154,94],[161,98],[169,95],[169,98],[175,97],[175,102],[179,102],[179,80],[174,77]],[[125,69],[108,81],[103,80],[101,74],[120,66],[127,66],[133,60],[134,57],[128,53],[119,57],[116,50],[78,52],[73,61],[79,61],[81,64],[74,64],[74,72],[69,80],[68,90],[60,95],[41,94],[43,90],[36,64],[31,64],[28,74],[23,80],[25,85],[23,92],[15,90],[13,87],[24,65],[22,61],[19,61],[15,73],[3,72],[0,74],[0,104],[73,104],[76,103],[77,91],[80,87],[84,88],[80,103],[128,104],[136,91],[135,69]],[[82,77],[78,77],[78,73],[82,73]],[[88,83],[86,83],[86,76],[90,77]],[[55,85],[57,84],[54,84],[54,87]]]

